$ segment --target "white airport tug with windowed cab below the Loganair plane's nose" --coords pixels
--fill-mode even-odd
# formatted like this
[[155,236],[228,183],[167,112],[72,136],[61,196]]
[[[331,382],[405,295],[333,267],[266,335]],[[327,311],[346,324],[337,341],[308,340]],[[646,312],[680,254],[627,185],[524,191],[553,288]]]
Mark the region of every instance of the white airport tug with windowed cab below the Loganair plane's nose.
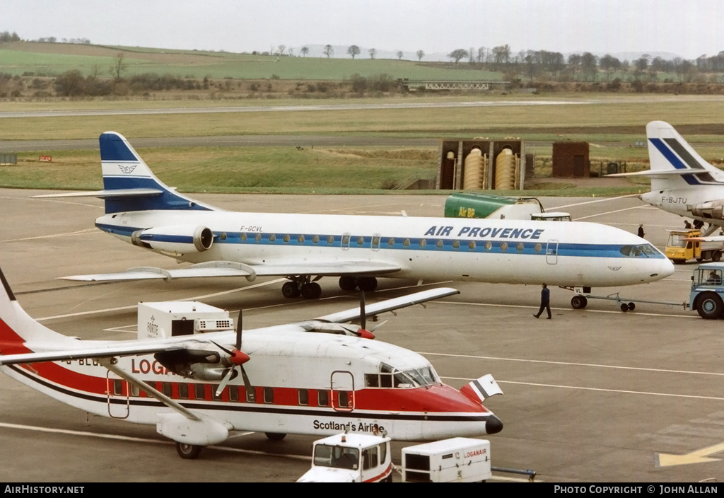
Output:
[[390,438],[345,433],[319,439],[312,468],[297,482],[392,482]]

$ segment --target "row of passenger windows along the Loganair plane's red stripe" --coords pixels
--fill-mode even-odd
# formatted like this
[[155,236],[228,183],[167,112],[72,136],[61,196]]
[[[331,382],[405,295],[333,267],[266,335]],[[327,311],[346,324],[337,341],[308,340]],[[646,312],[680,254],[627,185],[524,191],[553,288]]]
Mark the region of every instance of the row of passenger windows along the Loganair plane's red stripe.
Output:
[[[125,381],[121,379],[114,379],[113,381],[113,394],[115,396],[125,396],[124,390]],[[158,385],[160,384],[160,385]],[[228,400],[232,402],[248,402],[256,403],[257,396],[256,392],[261,389],[261,400],[267,404],[274,403],[274,388],[273,387],[261,387],[253,388],[247,391],[243,386],[229,386],[224,388],[221,396],[216,396],[216,386],[213,384],[185,384],[172,382],[159,382],[156,385],[156,389],[174,400],[216,400],[221,401],[224,397],[224,392],[227,393]],[[177,386],[174,392],[174,386]],[[210,395],[207,394],[210,390]],[[310,392],[312,395],[316,391],[316,406],[329,406],[329,391],[319,389],[297,389],[297,400],[298,405],[309,405]],[[338,405],[342,408],[347,408],[350,405],[350,394],[346,391],[337,391],[339,395]],[[130,385],[130,395],[133,397],[140,397],[141,391],[135,385]]]

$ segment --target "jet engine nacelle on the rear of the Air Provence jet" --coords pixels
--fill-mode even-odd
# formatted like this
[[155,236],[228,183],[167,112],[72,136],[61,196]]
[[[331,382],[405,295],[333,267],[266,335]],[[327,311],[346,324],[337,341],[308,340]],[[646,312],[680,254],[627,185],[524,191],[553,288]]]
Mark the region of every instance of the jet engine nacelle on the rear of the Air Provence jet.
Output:
[[207,227],[192,225],[147,228],[133,232],[131,242],[142,248],[167,253],[203,253],[214,243],[214,232]]

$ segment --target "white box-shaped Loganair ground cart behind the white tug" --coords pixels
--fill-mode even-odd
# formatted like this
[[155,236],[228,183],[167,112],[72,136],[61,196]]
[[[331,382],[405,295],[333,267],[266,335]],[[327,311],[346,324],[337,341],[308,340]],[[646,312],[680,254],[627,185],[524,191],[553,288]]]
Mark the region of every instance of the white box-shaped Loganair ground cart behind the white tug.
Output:
[[403,448],[403,482],[479,482],[491,477],[487,439],[453,437]]

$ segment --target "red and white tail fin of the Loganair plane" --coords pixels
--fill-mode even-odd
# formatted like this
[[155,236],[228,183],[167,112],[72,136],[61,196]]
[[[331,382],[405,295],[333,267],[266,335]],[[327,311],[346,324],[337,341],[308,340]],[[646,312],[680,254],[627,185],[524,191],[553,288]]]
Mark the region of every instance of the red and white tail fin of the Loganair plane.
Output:
[[32,353],[33,343],[75,342],[75,339],[48,329],[35,321],[15,299],[0,269],[0,354]]

